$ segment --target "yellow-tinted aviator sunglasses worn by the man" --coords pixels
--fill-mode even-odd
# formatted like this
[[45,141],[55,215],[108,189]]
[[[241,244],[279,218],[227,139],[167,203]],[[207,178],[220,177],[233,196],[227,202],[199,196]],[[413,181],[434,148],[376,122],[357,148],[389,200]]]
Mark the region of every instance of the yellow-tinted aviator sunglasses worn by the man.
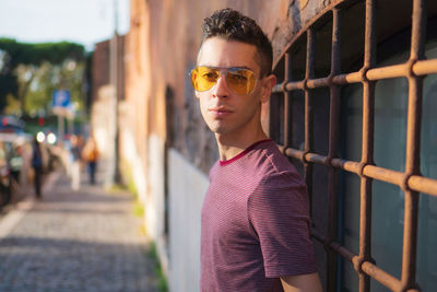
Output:
[[253,71],[246,68],[217,68],[199,66],[194,68],[191,75],[191,83],[196,91],[209,91],[217,83],[221,72],[226,73],[226,84],[234,93],[247,95],[252,93],[257,79]]

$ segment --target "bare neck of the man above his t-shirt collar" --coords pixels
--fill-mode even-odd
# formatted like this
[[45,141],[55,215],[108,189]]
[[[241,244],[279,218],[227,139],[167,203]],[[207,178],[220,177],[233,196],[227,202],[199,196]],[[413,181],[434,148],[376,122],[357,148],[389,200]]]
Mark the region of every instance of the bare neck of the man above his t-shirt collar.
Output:
[[232,135],[215,133],[215,139],[217,141],[220,160],[226,161],[235,157],[253,143],[269,138],[264,131],[259,128],[257,131],[234,137]]

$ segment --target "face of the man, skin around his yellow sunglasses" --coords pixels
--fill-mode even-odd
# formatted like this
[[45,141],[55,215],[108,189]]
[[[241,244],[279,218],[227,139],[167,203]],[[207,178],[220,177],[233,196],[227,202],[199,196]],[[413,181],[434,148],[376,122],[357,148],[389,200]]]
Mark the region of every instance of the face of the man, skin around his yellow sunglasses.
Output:
[[240,42],[220,37],[206,39],[198,56],[198,66],[215,68],[247,68],[257,78],[255,90],[247,95],[236,94],[228,87],[225,73],[208,91],[196,92],[200,100],[203,119],[216,135],[240,136],[260,127],[261,103],[267,102],[264,80],[260,80],[260,67],[256,62],[257,48]]

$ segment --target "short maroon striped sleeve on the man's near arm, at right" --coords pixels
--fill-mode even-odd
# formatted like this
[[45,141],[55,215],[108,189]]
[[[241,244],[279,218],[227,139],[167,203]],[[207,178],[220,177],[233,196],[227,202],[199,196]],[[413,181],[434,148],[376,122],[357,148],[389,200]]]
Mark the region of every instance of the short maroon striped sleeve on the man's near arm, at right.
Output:
[[248,215],[260,241],[267,278],[317,271],[308,195],[297,173],[264,178],[250,196]]

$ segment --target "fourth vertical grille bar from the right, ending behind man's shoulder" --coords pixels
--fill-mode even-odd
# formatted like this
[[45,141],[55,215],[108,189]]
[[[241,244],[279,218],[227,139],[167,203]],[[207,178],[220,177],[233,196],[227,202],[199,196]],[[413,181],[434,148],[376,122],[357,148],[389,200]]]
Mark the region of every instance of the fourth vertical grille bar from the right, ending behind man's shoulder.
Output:
[[[314,31],[309,28],[307,32],[307,63],[305,79],[309,80],[314,78],[314,57],[315,55],[315,42]],[[314,150],[314,114],[312,114],[312,102],[311,91],[305,87],[305,153],[309,153]],[[308,186],[308,195],[310,207],[312,207],[312,163],[305,162],[305,183]],[[311,215],[312,215],[312,208]]]

